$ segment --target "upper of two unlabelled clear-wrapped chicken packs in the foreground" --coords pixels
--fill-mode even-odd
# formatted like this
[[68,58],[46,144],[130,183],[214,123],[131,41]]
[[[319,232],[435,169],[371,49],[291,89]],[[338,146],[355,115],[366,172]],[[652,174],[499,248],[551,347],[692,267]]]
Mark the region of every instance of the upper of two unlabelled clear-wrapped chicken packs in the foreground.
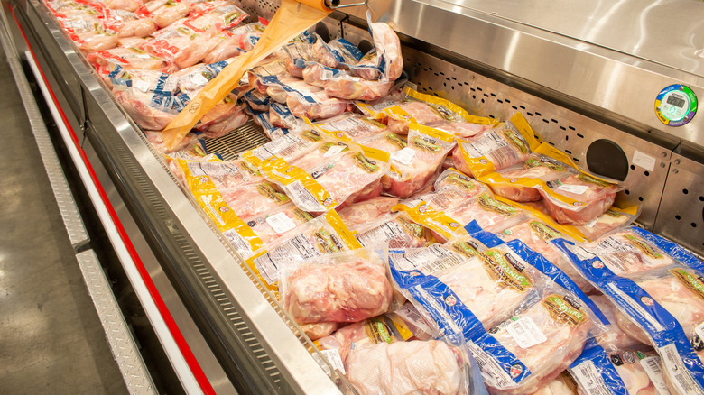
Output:
[[384,262],[361,255],[305,262],[282,281],[283,307],[301,324],[375,317],[389,309],[393,294]]

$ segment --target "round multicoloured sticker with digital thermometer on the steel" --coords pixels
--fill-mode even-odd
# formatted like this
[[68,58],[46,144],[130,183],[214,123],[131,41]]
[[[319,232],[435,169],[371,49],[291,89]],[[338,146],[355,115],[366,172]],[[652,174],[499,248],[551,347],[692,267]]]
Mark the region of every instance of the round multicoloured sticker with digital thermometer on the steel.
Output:
[[689,123],[697,114],[697,108],[697,95],[684,85],[665,87],[655,98],[655,115],[668,126]]

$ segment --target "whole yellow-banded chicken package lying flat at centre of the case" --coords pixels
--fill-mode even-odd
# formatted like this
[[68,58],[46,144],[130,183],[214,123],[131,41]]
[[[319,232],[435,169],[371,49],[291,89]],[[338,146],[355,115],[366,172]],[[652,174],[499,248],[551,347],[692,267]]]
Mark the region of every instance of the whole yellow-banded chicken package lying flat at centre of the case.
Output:
[[355,147],[326,142],[292,164],[281,158],[266,160],[262,170],[296,206],[320,213],[379,196],[388,164],[366,157]]

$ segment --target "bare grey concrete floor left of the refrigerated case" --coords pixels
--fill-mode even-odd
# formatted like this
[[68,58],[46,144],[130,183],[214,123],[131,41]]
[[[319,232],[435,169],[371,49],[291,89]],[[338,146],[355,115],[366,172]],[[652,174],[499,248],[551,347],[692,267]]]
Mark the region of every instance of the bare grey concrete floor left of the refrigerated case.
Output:
[[1,52],[0,87],[0,392],[126,393]]

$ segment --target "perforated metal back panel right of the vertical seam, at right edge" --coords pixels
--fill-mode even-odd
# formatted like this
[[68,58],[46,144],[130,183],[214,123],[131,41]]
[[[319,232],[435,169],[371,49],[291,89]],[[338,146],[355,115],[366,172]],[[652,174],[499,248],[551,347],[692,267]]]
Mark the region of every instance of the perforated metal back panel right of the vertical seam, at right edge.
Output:
[[704,254],[704,164],[672,154],[654,230]]

